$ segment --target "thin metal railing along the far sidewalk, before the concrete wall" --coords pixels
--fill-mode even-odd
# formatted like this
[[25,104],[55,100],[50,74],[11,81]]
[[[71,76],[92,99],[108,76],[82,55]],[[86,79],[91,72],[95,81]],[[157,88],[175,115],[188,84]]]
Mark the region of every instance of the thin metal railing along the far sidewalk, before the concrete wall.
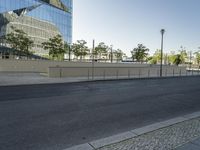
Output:
[[[166,66],[162,77],[195,76],[200,70]],[[79,77],[85,80],[158,78],[159,67],[51,67],[50,77]]]

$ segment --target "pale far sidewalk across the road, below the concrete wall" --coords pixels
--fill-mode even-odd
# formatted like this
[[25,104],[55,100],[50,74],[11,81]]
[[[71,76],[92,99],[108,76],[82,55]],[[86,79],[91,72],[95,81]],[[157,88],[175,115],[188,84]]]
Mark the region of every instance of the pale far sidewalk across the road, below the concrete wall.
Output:
[[[195,75],[194,75],[195,76]],[[169,78],[172,76],[169,76]],[[179,77],[179,76],[174,76]],[[184,77],[184,76],[181,76]],[[191,76],[192,77],[192,76]],[[159,78],[159,77],[138,77],[133,76],[109,76],[94,77],[94,80],[117,80],[117,79],[140,79],[140,78]],[[165,78],[165,77],[164,77]],[[166,77],[168,78],[168,77]],[[66,78],[50,78],[45,73],[24,73],[24,72],[0,72],[0,86],[11,85],[30,85],[30,84],[52,84],[52,83],[72,83],[81,81],[92,81],[92,77],[66,77]]]

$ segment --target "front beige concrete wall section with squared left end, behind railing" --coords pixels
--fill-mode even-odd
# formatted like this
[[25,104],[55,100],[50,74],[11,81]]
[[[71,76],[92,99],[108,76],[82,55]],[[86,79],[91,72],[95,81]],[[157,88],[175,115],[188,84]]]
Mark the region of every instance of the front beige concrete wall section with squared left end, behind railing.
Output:
[[[49,77],[157,77],[159,66],[49,67]],[[184,67],[163,66],[163,76],[186,75]]]

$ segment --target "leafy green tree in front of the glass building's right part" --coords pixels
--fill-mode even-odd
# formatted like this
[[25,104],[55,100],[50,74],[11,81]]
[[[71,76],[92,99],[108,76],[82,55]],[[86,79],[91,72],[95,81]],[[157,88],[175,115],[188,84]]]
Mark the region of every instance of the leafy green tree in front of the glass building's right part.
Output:
[[58,34],[52,38],[49,38],[49,40],[47,42],[43,42],[42,45],[45,50],[49,50],[49,56],[51,56],[53,59],[64,59],[66,49],[64,49],[64,42],[61,35]]

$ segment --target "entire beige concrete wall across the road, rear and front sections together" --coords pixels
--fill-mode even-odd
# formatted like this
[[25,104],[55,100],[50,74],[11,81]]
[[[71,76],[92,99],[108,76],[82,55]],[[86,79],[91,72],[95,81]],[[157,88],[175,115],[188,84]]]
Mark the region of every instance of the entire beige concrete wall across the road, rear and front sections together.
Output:
[[[48,73],[49,77],[159,76],[159,65],[131,63],[60,62],[46,60],[0,60],[0,72]],[[185,67],[163,66],[163,75],[186,74]]]

